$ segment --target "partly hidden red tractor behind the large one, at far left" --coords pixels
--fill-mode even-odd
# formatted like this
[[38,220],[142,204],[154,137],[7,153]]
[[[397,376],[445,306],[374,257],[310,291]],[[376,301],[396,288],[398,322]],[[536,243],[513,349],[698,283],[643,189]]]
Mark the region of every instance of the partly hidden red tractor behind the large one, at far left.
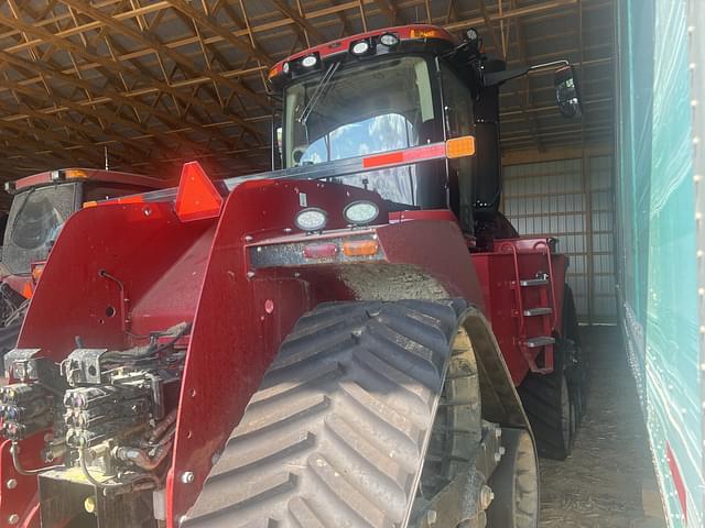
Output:
[[0,271],[0,356],[14,348],[44,262],[66,219],[84,202],[165,187],[162,179],[95,168],[64,168],[8,182],[13,195]]

